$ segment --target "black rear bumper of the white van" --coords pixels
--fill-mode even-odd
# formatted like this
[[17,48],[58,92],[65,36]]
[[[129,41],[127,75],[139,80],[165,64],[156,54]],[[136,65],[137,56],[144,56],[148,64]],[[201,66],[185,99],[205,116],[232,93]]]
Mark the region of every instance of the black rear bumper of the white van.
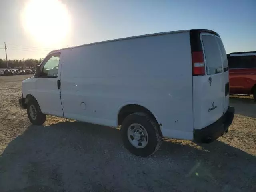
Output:
[[228,127],[233,121],[234,107],[228,107],[226,113],[213,124],[202,128],[194,129],[194,141],[199,143],[210,143],[228,132]]

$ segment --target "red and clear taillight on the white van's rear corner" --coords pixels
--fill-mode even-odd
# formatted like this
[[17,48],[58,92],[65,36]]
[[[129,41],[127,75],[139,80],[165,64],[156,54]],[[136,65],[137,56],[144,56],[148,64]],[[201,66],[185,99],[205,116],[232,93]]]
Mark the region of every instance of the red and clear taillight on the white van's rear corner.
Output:
[[193,75],[205,75],[204,54],[202,51],[192,52]]

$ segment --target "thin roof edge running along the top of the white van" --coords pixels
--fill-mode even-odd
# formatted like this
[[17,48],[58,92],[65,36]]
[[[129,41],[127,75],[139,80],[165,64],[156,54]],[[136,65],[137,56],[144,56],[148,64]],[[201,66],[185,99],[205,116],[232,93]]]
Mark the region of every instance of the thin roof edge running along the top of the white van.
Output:
[[213,33],[213,34],[216,34],[219,36],[218,33],[214,32],[212,30],[208,30],[208,29],[189,29],[189,30],[179,30],[179,31],[168,31],[168,32],[152,33],[152,34],[145,34],[145,35],[139,35],[139,36],[131,36],[131,37],[125,37],[125,38],[119,38],[119,39],[113,39],[113,40],[94,42],[94,43],[89,43],[89,44],[73,46],[73,47],[67,47],[67,48],[63,48],[63,49],[56,49],[56,50],[52,50],[50,53],[60,51],[60,50],[65,50],[65,49],[73,49],[73,48],[77,48],[77,47],[106,43],[106,42],[114,42],[114,41],[120,41],[120,40],[128,40],[128,39],[135,39],[135,38],[148,37],[148,36],[157,36],[157,35],[164,35],[164,34],[184,33],[184,32],[190,32],[190,31],[198,31],[199,33],[200,32],[209,32],[209,33]]

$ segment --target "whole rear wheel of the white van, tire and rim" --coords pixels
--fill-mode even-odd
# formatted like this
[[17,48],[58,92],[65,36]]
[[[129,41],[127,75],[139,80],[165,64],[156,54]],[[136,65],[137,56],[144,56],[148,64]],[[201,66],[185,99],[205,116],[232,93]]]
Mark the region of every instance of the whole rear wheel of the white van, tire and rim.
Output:
[[141,112],[130,114],[124,119],[121,134],[125,148],[136,156],[150,156],[162,144],[158,123]]

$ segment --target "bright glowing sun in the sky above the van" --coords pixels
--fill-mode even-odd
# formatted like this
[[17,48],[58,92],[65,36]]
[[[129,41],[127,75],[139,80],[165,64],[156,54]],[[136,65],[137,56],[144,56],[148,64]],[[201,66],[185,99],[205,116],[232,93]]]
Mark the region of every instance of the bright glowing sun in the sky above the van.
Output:
[[21,21],[24,30],[44,45],[57,44],[70,32],[70,14],[60,0],[28,0]]

